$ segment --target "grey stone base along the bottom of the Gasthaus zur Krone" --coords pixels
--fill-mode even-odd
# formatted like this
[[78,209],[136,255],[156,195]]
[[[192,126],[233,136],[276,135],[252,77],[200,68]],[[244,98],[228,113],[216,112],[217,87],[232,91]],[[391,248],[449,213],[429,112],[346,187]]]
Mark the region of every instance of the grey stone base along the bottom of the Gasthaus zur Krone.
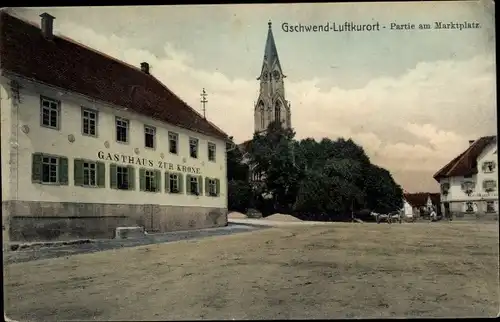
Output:
[[4,240],[53,241],[113,238],[115,229],[141,226],[148,233],[227,225],[227,209],[161,205],[2,202]]

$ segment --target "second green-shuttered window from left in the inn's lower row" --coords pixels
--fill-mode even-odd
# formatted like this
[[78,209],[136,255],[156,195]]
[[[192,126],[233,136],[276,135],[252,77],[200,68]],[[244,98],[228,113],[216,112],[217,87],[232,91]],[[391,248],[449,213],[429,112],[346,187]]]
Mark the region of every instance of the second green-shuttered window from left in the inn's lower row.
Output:
[[105,186],[106,165],[104,162],[75,159],[75,186],[99,187]]

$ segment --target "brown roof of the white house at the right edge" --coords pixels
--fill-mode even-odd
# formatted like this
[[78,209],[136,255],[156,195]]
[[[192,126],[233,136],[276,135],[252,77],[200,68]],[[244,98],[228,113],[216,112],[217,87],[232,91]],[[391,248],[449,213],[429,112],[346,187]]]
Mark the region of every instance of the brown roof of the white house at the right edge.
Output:
[[496,135],[491,135],[474,141],[467,150],[436,172],[434,179],[439,181],[441,178],[477,174],[477,158],[489,144],[495,143],[496,139]]

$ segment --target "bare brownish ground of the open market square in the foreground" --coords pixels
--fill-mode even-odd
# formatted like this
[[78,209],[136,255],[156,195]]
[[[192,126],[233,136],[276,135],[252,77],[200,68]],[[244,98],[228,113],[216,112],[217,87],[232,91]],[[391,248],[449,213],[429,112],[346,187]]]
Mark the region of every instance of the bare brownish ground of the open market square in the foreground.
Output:
[[16,320],[499,312],[496,224],[290,226],[5,266]]

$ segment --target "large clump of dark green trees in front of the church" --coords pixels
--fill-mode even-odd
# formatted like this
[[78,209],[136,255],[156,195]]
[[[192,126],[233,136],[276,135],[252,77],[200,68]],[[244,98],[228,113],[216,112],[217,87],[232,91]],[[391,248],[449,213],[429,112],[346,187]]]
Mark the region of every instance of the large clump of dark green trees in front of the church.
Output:
[[336,220],[366,208],[389,212],[402,207],[401,187],[351,139],[296,141],[294,136],[274,123],[252,141],[250,164],[265,174],[260,192],[273,195],[276,211]]

